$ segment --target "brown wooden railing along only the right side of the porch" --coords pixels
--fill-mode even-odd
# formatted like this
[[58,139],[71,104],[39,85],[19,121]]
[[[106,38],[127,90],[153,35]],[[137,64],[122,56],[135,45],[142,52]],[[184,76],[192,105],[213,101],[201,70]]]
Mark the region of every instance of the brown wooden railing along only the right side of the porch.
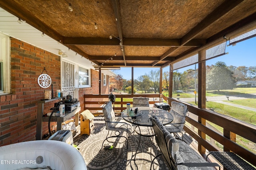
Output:
[[[174,98],[168,98],[169,104],[172,101],[177,101]],[[190,123],[192,126],[198,129],[198,133],[195,132],[191,127],[187,125],[184,126],[184,131],[188,133],[198,142],[198,151],[201,154],[205,153],[205,149],[209,151],[227,151],[235,152],[244,160],[247,160],[252,165],[256,166],[256,154],[250,150],[241,147],[236,143],[236,135],[239,135],[245,139],[248,139],[256,145],[256,126],[250,123],[245,123],[238,119],[216,113],[209,109],[200,109],[194,105],[182,102],[188,107],[188,111],[198,116],[198,120],[194,120],[191,117],[186,117],[186,122]],[[223,127],[223,135],[212,130],[210,127],[206,127],[206,120],[210,121],[220,127]],[[205,135],[208,135],[221,145],[223,145],[224,150],[219,150],[216,146],[212,145],[206,140]]]

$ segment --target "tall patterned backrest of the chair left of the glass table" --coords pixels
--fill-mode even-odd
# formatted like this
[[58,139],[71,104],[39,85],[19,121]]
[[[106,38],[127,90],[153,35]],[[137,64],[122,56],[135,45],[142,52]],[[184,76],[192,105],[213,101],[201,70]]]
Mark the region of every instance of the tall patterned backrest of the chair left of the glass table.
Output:
[[106,122],[106,129],[112,126],[113,121],[115,121],[115,112],[112,108],[112,102],[109,101],[104,107],[102,107],[102,112]]

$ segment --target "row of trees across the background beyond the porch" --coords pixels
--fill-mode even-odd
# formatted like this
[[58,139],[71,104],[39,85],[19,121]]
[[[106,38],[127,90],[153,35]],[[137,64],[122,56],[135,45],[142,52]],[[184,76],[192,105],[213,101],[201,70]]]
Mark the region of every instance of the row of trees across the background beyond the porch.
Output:
[[[162,88],[169,88],[169,72],[163,72]],[[245,80],[256,80],[256,66],[227,66],[224,62],[217,62],[214,65],[206,66],[206,90],[229,90],[236,88],[236,82]],[[175,70],[173,72],[174,90],[196,90],[198,88],[198,69],[188,69],[184,72]],[[160,70],[151,70],[134,80],[134,93],[154,92],[159,93]],[[131,93],[132,82],[125,80],[118,74],[110,78],[110,86],[117,91]]]

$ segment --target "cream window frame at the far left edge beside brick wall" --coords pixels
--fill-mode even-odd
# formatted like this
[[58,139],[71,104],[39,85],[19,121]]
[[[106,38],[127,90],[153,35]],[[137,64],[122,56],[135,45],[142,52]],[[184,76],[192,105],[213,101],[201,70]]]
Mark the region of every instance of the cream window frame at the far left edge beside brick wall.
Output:
[[10,79],[10,37],[0,33],[0,62],[2,63],[2,89],[0,95],[10,94],[11,79]]

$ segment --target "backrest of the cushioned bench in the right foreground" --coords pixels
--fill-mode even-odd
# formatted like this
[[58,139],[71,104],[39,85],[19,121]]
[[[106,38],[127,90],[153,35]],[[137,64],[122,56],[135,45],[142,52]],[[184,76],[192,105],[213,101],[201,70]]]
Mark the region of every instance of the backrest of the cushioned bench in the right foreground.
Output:
[[156,143],[163,155],[169,169],[177,169],[176,152],[179,150],[178,141],[165,129],[156,116],[152,116],[152,125],[155,133]]

